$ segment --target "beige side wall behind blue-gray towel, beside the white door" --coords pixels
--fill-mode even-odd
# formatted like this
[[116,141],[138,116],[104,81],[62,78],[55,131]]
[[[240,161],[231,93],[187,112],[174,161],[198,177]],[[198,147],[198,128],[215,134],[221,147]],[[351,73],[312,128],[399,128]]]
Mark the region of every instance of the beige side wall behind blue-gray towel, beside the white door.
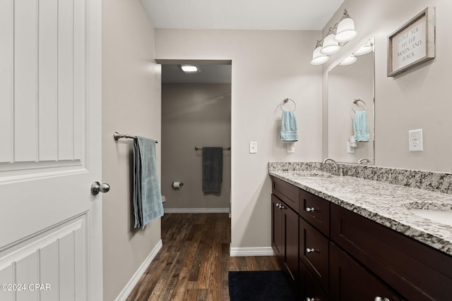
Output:
[[[114,131],[160,140],[160,65],[154,29],[138,0],[102,1],[102,180],[104,300],[114,300],[160,241],[160,219],[132,230],[132,140]],[[160,169],[160,144],[157,161]]]

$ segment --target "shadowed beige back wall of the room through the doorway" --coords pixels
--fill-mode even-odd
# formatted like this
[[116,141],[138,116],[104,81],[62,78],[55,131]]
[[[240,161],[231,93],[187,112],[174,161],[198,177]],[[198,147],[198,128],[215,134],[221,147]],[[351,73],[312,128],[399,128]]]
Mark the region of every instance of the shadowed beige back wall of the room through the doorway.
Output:
[[[202,67],[202,66],[201,66]],[[202,72],[202,71],[201,71]],[[162,194],[167,209],[229,209],[231,152],[223,152],[220,193],[202,190],[202,151],[231,145],[230,84],[162,85]],[[180,189],[173,181],[183,182]]]

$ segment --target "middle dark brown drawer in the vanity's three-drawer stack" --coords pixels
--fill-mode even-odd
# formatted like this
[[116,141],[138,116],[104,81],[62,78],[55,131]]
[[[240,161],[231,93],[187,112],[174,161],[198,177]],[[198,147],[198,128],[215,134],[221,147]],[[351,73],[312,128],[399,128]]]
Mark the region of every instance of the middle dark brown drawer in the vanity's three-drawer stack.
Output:
[[328,238],[299,218],[299,259],[328,293]]

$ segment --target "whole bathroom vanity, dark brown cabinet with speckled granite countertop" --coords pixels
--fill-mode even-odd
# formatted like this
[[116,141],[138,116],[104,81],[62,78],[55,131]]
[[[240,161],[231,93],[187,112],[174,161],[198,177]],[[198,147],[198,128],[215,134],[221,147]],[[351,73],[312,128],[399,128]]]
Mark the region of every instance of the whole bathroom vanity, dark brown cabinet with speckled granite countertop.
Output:
[[302,300],[451,300],[452,226],[410,209],[451,210],[452,195],[314,169],[269,173],[272,247]]

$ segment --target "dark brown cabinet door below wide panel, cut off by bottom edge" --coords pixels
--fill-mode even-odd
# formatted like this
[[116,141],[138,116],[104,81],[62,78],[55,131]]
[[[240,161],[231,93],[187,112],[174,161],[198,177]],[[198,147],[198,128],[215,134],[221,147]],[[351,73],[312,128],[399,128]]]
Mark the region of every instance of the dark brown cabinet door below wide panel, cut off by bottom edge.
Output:
[[331,300],[405,300],[330,242]]

